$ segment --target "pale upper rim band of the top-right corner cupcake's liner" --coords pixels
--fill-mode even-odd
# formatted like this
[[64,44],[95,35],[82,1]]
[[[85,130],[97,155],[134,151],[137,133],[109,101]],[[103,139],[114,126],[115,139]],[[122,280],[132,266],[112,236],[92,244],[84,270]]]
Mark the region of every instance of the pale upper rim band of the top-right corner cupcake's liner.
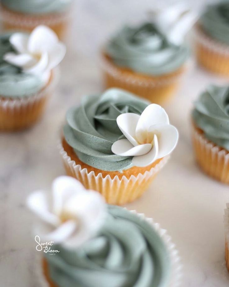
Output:
[[202,32],[199,27],[194,28],[194,37],[197,42],[208,50],[221,54],[222,56],[229,56],[229,45],[215,41]]

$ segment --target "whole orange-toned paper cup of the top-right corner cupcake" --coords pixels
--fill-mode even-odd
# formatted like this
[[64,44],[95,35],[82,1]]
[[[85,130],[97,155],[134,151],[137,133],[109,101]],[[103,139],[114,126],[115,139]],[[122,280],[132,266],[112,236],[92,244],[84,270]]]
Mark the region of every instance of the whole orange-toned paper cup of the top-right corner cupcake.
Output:
[[229,45],[215,41],[203,30],[195,27],[195,52],[197,61],[206,70],[229,76]]

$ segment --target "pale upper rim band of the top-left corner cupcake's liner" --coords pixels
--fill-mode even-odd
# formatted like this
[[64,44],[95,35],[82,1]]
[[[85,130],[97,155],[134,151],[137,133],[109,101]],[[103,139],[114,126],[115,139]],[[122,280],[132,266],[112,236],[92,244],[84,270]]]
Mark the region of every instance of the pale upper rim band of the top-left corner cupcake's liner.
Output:
[[68,21],[68,19],[70,18],[70,12],[53,15],[49,14],[47,17],[42,15],[37,18],[31,15],[8,11],[2,6],[0,6],[0,15],[3,22],[15,26],[18,29],[22,27],[33,28],[41,24],[46,26],[58,25],[62,22]]

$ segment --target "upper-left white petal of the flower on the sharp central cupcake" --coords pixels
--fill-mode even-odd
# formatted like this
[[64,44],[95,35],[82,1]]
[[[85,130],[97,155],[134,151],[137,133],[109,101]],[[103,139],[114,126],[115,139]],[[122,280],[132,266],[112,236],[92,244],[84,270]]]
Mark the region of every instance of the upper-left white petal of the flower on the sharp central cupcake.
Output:
[[134,146],[138,145],[135,139],[135,129],[139,118],[138,114],[125,113],[120,114],[116,119],[119,129]]

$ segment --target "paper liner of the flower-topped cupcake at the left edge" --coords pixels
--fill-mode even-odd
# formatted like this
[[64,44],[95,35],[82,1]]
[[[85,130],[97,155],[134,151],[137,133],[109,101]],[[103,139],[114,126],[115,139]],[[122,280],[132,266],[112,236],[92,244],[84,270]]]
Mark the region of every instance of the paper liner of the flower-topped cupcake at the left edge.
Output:
[[41,117],[58,76],[58,69],[54,69],[47,87],[35,95],[23,98],[0,97],[0,131],[16,131],[34,124]]

